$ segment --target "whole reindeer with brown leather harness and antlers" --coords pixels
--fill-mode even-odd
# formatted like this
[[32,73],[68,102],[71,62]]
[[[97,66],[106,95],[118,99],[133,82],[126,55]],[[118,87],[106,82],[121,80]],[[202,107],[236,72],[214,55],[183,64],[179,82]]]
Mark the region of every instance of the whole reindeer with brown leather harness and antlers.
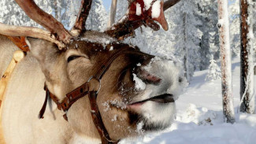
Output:
[[104,32],[85,29],[91,0],[82,0],[71,31],[33,0],[16,2],[48,31],[0,24],[1,75],[17,50],[4,35],[27,36],[30,47],[2,102],[7,144],[117,143],[172,124],[175,100],[186,83],[180,65],[121,39],[142,24],[159,29],[154,20],[168,29],[163,10],[179,0],[161,2],[159,17],[150,9],[135,15],[134,6],[143,1],[132,1],[124,18]]

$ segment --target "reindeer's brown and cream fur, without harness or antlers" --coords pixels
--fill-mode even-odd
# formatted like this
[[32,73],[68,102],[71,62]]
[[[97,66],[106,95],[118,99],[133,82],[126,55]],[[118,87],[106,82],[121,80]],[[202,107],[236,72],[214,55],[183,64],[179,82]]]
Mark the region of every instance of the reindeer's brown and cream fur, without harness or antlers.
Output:
[[[102,33],[89,31],[87,37],[72,42],[68,50],[58,50],[53,43],[40,39],[28,39],[31,44],[31,52],[28,53],[17,65],[6,90],[6,100],[3,102],[2,127],[7,144],[27,143],[100,143],[98,131],[91,119],[91,108],[86,97],[78,100],[69,109],[67,116],[69,122],[62,117],[63,112],[57,109],[54,102],[49,102],[44,114],[44,119],[39,120],[45,91],[44,83],[51,93],[61,100],[65,94],[85,83],[90,76],[95,74],[103,61],[106,61],[115,50],[133,46],[116,43],[112,47],[108,43],[113,39]],[[87,42],[95,40],[97,43]],[[99,39],[104,39],[102,43]],[[115,42],[114,42],[115,43]],[[0,73],[7,67],[13,50],[17,48],[0,35]],[[69,61],[76,55],[76,59]],[[147,83],[147,87],[153,87],[150,94],[148,90],[135,90],[135,82],[132,73],[140,67],[146,69],[147,65],[159,65],[158,61],[151,61],[153,56],[148,54],[125,54],[117,57],[109,70],[102,77],[102,88],[98,93],[98,107],[102,114],[103,123],[109,135],[114,140],[132,137],[141,134],[138,124],[143,123],[146,131],[158,131],[168,127],[173,122],[175,113],[174,103],[160,104],[146,102],[142,107],[132,109],[128,104],[141,101],[158,94],[168,93],[170,87],[184,87],[180,84],[183,73],[176,65],[174,68],[155,67],[148,70],[154,75],[162,72],[158,77],[158,84]],[[159,60],[162,61],[162,60]],[[171,71],[166,75],[164,71]],[[157,70],[158,69],[158,70]],[[146,69],[147,70],[147,69]],[[168,73],[168,72],[167,72]],[[98,83],[92,81],[91,89],[97,89]]]

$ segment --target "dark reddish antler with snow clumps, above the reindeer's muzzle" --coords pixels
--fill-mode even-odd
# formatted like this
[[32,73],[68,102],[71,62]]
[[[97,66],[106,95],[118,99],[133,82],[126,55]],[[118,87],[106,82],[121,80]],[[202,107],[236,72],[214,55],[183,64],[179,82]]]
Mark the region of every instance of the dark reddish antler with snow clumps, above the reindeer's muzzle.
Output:
[[[124,17],[122,17],[121,20],[117,22],[117,24],[114,24],[112,28],[109,28],[107,31],[105,31],[105,33],[116,39],[124,39],[128,36],[134,35],[135,29],[139,28],[142,25],[149,26],[150,28],[154,29],[154,31],[158,31],[160,27],[158,26],[158,24],[154,23],[154,20],[158,21],[158,23],[161,24],[162,28],[167,31],[168,24],[165,20],[163,12],[166,9],[169,9],[170,7],[176,5],[176,3],[180,2],[180,0],[169,0],[165,3],[160,2],[160,13],[153,14],[153,7],[157,7],[156,5],[159,5],[156,2],[156,0],[153,0],[150,3],[149,7],[145,6],[143,0],[132,1],[128,8],[128,13],[126,13]],[[158,17],[156,17],[155,15],[157,15]]]

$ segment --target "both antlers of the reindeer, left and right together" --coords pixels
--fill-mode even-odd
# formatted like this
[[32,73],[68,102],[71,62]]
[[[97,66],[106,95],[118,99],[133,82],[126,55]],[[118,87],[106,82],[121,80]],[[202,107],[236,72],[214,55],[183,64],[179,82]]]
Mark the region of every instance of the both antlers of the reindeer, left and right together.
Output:
[[[24,10],[28,17],[35,20],[35,22],[42,25],[48,31],[39,28],[0,24],[0,34],[2,35],[30,36],[45,39],[56,43],[61,49],[65,47],[66,44],[69,44],[71,39],[83,35],[84,31],[86,31],[85,22],[91,9],[92,0],[82,0],[80,13],[76,18],[76,23],[71,32],[66,30],[63,24],[61,24],[50,14],[45,13],[42,9],[40,9],[33,0],[15,1]],[[145,4],[144,0],[132,0],[130,1],[128,13],[126,13],[126,15],[117,24],[113,25],[112,28],[105,31],[105,33],[116,39],[124,39],[130,35],[133,35],[135,29],[142,25],[148,26],[157,31],[160,27],[154,21],[161,24],[161,27],[166,31],[168,30],[168,24],[165,20],[164,10],[174,6],[177,2],[180,2],[180,0],[169,0],[165,3],[152,0],[150,4]]]

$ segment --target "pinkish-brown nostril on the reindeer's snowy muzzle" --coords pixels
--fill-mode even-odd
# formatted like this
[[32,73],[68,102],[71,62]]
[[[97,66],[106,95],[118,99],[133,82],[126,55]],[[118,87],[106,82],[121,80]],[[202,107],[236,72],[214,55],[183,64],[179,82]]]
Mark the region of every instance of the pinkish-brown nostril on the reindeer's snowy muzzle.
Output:
[[143,68],[137,69],[137,76],[139,77],[139,79],[142,79],[144,83],[157,85],[161,82],[161,78],[159,78],[158,76],[154,76],[153,74],[150,74],[150,72],[147,72]]

